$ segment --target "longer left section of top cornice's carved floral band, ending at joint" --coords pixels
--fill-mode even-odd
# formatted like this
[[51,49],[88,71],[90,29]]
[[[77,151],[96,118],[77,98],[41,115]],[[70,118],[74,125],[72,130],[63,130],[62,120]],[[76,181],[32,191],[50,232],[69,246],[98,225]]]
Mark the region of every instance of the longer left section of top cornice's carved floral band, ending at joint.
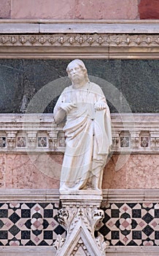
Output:
[[1,46],[108,46],[107,34],[3,34],[0,36]]

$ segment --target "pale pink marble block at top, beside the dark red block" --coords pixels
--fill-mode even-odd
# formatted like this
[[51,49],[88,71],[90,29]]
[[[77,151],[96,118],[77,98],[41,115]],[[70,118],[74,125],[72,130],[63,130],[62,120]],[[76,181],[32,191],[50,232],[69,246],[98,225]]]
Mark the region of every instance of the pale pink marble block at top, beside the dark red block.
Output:
[[77,19],[137,19],[138,0],[77,0]]

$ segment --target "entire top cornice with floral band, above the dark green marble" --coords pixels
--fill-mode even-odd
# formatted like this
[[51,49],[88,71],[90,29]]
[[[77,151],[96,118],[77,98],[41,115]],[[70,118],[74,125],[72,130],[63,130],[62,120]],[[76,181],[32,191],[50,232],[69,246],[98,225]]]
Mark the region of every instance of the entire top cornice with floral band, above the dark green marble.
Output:
[[4,20],[0,58],[158,59],[159,23]]

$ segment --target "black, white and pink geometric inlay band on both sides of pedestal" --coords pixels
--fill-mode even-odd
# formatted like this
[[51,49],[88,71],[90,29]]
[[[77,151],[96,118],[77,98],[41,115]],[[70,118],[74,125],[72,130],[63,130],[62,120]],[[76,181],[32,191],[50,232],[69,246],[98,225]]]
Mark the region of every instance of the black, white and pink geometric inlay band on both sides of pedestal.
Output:
[[[95,235],[109,246],[158,246],[159,203],[108,203]],[[58,205],[0,203],[0,246],[52,246],[66,230],[57,221]]]

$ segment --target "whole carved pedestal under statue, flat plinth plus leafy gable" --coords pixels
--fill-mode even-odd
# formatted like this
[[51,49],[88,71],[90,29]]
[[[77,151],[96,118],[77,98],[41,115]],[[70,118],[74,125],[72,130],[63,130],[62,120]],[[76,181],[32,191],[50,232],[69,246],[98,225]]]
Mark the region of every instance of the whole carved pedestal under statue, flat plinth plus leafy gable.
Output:
[[59,235],[55,241],[57,256],[104,256],[104,238],[94,237],[96,225],[104,218],[104,211],[100,209],[101,191],[61,192],[60,200],[58,222],[66,227],[67,236],[64,241]]

